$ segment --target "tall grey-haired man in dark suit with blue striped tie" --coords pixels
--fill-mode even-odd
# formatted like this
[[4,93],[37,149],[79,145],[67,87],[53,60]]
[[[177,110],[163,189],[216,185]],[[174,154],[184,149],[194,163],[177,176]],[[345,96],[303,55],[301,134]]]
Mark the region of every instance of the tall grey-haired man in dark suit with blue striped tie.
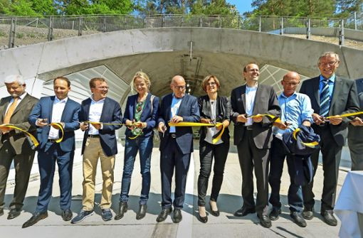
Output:
[[[310,97],[312,109],[312,129],[320,135],[320,150],[322,151],[322,169],[324,171],[324,185],[322,189],[322,205],[320,213],[328,225],[336,226],[337,220],[333,215],[335,193],[337,190],[337,177],[339,173],[342,146],[347,138],[347,117],[333,117],[325,121],[325,117],[357,112],[359,103],[357,87],[353,80],[345,80],[335,75],[339,66],[339,55],[327,52],[320,56],[317,66],[320,76],[302,82],[300,92]],[[317,169],[319,152],[312,154],[314,175]],[[302,187],[304,211],[302,216],[311,220],[314,216],[314,193],[312,183]]]

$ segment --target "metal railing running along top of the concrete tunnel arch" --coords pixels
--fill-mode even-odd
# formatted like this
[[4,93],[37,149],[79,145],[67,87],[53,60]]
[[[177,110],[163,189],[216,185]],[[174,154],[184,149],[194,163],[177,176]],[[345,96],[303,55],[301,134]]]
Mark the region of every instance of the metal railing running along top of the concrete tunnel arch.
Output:
[[363,42],[363,14],[346,19],[316,19],[276,16],[195,16],[195,15],[92,15],[48,16],[43,18],[1,17],[0,49],[40,43],[47,40],[85,36],[94,33],[140,28],[209,27],[232,28],[275,34],[328,36]]

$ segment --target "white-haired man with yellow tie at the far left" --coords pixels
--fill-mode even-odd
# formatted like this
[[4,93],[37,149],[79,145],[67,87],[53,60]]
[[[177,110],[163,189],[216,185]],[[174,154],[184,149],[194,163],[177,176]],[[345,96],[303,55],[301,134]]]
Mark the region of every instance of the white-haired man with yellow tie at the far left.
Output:
[[[36,128],[28,123],[28,114],[38,99],[25,92],[26,84],[21,75],[9,75],[4,81],[6,90],[11,96],[4,97],[0,101],[0,125],[14,124],[24,131],[35,134]],[[8,215],[8,220],[11,220],[20,215],[23,207],[34,150],[22,131],[11,128],[2,128],[0,131],[0,215],[4,214],[6,180],[13,160],[15,168],[14,199],[10,203]]]

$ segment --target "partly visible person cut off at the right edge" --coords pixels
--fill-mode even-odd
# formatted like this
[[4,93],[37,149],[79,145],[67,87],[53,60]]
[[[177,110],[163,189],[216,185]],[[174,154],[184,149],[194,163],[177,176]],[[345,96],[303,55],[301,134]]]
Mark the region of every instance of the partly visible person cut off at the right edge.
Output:
[[[363,79],[355,80],[360,111],[363,111]],[[363,115],[354,117],[348,126],[348,146],[352,171],[363,171]]]

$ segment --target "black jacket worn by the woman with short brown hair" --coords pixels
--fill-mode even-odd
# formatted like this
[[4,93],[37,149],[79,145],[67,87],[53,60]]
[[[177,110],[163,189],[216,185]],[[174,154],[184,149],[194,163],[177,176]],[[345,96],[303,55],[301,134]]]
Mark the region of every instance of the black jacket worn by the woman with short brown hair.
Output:
[[[211,104],[209,103],[208,95],[204,95],[198,98],[199,112],[201,119],[211,119]],[[217,96],[216,99],[216,122],[223,122],[224,120],[230,121],[231,115],[231,103],[225,96]],[[201,126],[200,129],[200,141],[206,139],[206,127]],[[229,129],[226,127],[221,137],[222,141],[229,141]]]

